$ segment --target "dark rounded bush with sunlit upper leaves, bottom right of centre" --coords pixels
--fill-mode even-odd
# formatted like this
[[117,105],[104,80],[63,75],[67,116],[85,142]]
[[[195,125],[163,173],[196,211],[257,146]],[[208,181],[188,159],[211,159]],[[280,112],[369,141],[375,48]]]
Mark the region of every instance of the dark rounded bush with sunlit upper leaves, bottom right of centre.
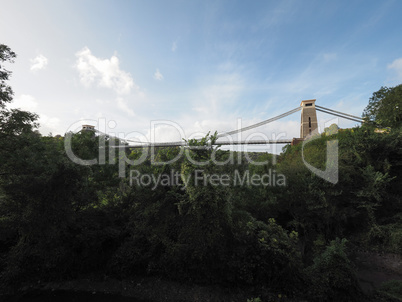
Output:
[[261,284],[295,294],[301,281],[296,232],[287,233],[274,219],[251,220],[237,230],[228,271],[237,282]]

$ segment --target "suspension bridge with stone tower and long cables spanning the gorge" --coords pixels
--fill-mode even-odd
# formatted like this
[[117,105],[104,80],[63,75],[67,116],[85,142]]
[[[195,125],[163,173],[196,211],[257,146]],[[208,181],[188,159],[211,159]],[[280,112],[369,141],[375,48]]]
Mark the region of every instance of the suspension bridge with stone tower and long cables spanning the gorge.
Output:
[[[217,140],[212,145],[220,145],[220,146],[231,146],[231,145],[267,145],[267,144],[297,144],[309,135],[315,133],[318,129],[317,123],[317,113],[316,111],[320,111],[326,114],[330,114],[336,117],[344,118],[350,121],[363,123],[363,119],[361,117],[343,113],[340,111],[336,111],[330,108],[325,108],[322,106],[318,106],[315,104],[315,99],[313,100],[305,100],[302,101],[299,107],[296,107],[292,110],[289,110],[285,113],[277,115],[275,117],[269,118],[267,120],[261,121],[259,123],[243,127],[240,129],[236,129],[233,131],[218,133]],[[300,137],[293,139],[276,139],[276,140],[243,140],[243,141],[219,141],[219,138],[231,137],[234,134],[249,131],[255,129],[257,127],[261,127],[267,125],[269,123],[275,122],[279,119],[285,118],[291,114],[301,111],[301,122],[300,122]],[[106,133],[103,133],[99,130],[95,129],[95,126],[91,125],[83,125],[81,131],[94,131],[98,135],[103,135],[108,138],[118,139],[123,145],[116,146],[117,148],[151,148],[151,147],[186,147],[188,143],[186,141],[176,141],[176,142],[154,142],[154,143],[145,143],[141,141],[135,141],[130,139],[120,139],[114,136],[110,136]]]

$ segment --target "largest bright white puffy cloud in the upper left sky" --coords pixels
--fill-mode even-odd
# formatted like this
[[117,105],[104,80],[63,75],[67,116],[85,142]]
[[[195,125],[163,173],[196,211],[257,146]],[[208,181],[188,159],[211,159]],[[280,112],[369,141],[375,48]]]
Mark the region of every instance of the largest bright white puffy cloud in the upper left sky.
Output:
[[110,60],[100,59],[85,47],[76,53],[76,57],[76,68],[83,85],[89,87],[97,83],[101,87],[113,89],[118,94],[128,94],[132,88],[138,89],[131,75],[120,69],[116,56],[112,56]]

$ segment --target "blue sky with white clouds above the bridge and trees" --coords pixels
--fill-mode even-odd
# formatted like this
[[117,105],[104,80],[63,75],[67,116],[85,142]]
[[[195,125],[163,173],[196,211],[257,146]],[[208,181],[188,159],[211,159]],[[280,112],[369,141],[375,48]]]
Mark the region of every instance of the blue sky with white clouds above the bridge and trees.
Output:
[[[361,116],[374,91],[402,83],[401,11],[398,0],[10,0],[0,43],[18,55],[7,65],[12,106],[38,113],[44,135],[100,120],[107,132],[145,139],[155,127],[169,141],[312,98]],[[299,127],[296,113],[258,132],[292,138]]]

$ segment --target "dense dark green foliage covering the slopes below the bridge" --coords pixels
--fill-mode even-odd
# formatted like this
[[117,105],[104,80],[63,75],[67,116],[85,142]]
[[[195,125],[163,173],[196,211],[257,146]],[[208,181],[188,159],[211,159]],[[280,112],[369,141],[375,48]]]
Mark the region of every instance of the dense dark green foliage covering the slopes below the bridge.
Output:
[[[252,285],[309,301],[359,301],[348,249],[402,253],[400,127],[389,133],[370,125],[332,127],[279,156],[221,151],[209,145],[216,134],[207,135],[190,140],[185,156],[170,163],[180,148],[157,149],[159,164],[148,157],[130,165],[143,150],[109,149],[118,142],[90,131],[44,137],[35,132],[36,119],[0,112],[3,289],[88,274],[156,275]],[[100,142],[113,152],[105,163],[78,165],[66,154],[67,139],[81,159],[98,158]],[[302,161],[303,154],[323,169],[327,142],[334,140],[336,184]],[[119,177],[122,162],[125,177]],[[133,175],[166,182],[138,183]],[[229,181],[216,183],[213,175]],[[264,175],[269,184],[240,181]]]

